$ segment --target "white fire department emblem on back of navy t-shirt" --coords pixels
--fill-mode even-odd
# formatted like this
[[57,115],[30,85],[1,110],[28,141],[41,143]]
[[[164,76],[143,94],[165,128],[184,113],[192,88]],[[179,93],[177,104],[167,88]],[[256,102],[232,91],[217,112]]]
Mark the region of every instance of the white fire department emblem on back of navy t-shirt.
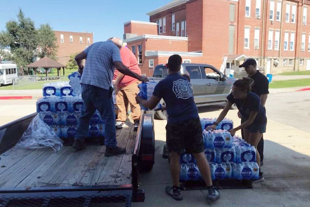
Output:
[[176,98],[188,99],[193,97],[193,89],[187,80],[173,81],[172,91],[175,93]]

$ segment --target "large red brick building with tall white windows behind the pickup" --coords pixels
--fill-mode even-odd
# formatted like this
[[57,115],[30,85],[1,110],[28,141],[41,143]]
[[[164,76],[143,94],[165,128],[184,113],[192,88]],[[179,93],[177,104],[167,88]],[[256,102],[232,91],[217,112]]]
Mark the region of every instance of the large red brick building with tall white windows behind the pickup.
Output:
[[310,70],[309,0],[175,0],[147,14],[124,24],[147,75],[173,53],[217,68],[226,56],[228,68],[253,57],[266,74]]

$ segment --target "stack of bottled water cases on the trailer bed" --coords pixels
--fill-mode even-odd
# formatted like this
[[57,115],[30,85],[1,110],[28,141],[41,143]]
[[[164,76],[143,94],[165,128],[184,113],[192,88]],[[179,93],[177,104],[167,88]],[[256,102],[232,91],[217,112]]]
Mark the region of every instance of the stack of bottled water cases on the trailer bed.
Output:
[[[70,82],[47,83],[43,86],[43,97],[37,101],[37,112],[65,145],[71,145],[76,134],[78,118],[83,100],[79,83],[81,75],[75,72],[68,76]],[[104,137],[104,124],[98,111],[91,117],[88,140]]]

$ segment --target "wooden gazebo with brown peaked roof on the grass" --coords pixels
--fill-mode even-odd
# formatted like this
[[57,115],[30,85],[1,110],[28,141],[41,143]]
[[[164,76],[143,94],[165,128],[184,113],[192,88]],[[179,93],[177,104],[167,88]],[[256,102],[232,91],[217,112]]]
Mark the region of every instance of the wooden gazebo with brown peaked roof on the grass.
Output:
[[57,76],[60,75],[59,71],[61,70],[61,68],[64,70],[64,68],[66,67],[65,65],[60,64],[57,61],[52,60],[49,57],[43,57],[38,61],[35,61],[29,65],[27,65],[26,67],[28,68],[44,68],[45,72],[46,72],[46,77],[47,77],[47,71],[50,68],[56,68],[57,69]]

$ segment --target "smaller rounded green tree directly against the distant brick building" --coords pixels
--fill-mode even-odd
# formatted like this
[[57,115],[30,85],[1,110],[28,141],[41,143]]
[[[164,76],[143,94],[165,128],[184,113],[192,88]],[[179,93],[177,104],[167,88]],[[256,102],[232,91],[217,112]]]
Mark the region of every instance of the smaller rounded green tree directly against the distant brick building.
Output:
[[56,58],[57,48],[56,36],[49,24],[41,25],[38,29],[38,45],[41,52],[38,54],[40,58],[48,56],[52,59]]

